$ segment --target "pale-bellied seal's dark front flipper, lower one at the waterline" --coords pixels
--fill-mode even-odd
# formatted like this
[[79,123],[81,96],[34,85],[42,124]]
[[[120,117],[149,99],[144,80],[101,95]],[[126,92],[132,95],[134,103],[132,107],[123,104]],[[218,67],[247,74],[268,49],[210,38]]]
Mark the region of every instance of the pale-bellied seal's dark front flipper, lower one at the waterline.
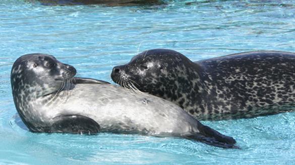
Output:
[[51,132],[95,134],[100,131],[97,122],[82,115],[61,115],[52,120]]

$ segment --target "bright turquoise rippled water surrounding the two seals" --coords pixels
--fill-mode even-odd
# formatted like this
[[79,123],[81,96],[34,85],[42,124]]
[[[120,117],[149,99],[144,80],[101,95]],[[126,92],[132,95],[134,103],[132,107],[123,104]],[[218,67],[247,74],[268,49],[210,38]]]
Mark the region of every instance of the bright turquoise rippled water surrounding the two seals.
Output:
[[[0,4],[0,164],[295,164],[295,112],[203,122],[242,149],[179,138],[31,133],[15,122],[10,70],[28,53],[111,81],[113,66],[153,48],[191,60],[255,50],[295,52],[293,1],[167,1],[144,7]],[[112,82],[113,83],[113,82]]]

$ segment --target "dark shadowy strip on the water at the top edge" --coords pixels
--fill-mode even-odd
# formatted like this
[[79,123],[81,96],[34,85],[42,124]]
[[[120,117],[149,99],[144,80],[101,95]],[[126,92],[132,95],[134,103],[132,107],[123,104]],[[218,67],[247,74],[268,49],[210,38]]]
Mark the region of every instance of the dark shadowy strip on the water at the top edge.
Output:
[[44,6],[68,5],[105,5],[105,6],[140,6],[163,5],[161,0],[26,0],[30,3],[40,3]]

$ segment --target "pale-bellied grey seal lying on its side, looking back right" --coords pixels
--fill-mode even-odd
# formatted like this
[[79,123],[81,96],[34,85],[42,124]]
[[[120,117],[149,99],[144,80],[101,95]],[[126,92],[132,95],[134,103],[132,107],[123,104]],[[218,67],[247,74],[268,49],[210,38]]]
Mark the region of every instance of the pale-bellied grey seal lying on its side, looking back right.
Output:
[[232,137],[203,125],[172,102],[75,74],[73,66],[50,55],[29,54],[16,60],[12,93],[30,131],[136,133],[237,147]]

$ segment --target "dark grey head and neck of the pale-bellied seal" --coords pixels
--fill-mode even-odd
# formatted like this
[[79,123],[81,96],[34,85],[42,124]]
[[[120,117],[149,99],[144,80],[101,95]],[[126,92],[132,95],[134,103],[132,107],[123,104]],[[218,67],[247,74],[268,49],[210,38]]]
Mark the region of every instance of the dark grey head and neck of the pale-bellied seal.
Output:
[[30,115],[30,101],[57,92],[65,79],[76,74],[76,69],[45,54],[28,54],[18,58],[11,71],[11,86],[16,109],[31,131],[34,127],[26,122]]

